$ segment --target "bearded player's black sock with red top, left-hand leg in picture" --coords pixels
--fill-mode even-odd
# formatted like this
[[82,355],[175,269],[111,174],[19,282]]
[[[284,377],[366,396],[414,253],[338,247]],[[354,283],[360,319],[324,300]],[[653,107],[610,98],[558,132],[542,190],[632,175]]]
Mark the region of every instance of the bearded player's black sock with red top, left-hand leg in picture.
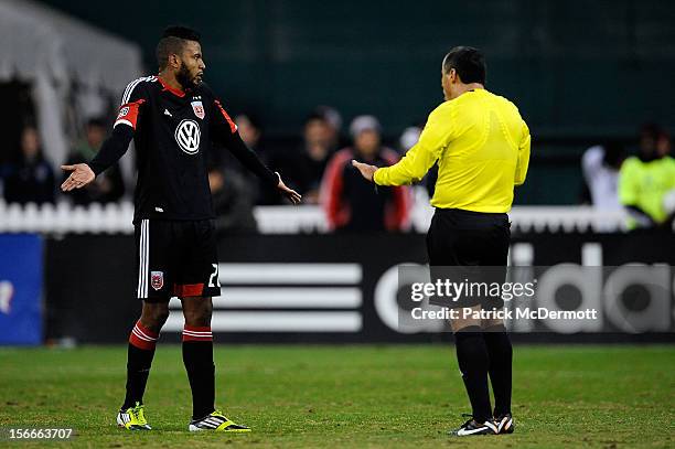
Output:
[[122,410],[133,407],[136,403],[143,403],[158,338],[159,334],[142,325],[140,320],[131,330],[127,352],[127,394]]

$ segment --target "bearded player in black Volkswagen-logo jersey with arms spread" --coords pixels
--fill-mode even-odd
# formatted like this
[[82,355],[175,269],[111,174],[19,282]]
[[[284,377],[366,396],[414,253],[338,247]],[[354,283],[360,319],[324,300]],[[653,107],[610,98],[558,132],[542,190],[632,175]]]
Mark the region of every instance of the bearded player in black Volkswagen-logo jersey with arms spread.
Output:
[[221,295],[216,240],[207,179],[211,142],[233,152],[270,189],[292,203],[300,195],[246,147],[221,100],[202,82],[205,64],[200,34],[168,28],[157,46],[159,74],[127,86],[111,136],[88,163],[71,172],[65,192],[82,189],[115,163],[133,139],[138,160],[135,216],[140,319],[129,336],[127,394],[117,415],[120,427],[150,429],[143,392],[169,299],[180,298],[185,318],[183,362],[192,389],[189,430],[250,431],[215,409],[215,366],[211,333],[212,297]]

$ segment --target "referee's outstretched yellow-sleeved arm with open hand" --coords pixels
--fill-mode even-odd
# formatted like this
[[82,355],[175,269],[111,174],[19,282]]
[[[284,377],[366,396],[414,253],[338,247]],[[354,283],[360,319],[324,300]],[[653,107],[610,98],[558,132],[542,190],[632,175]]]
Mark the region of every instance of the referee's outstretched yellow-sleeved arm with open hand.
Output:
[[352,164],[366,180],[374,181],[378,185],[406,185],[419,182],[448,146],[451,133],[449,115],[450,108],[446,105],[436,108],[429,115],[417,145],[394,165],[378,169],[357,161],[353,161]]

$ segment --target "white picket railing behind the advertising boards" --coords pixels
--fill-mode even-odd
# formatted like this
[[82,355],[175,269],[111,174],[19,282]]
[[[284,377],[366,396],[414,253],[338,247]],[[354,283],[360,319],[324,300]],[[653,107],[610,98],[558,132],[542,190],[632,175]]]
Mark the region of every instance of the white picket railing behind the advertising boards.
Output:
[[[262,234],[312,234],[329,231],[320,206],[257,206],[254,210]],[[433,209],[416,202],[410,213],[410,228],[426,233]],[[131,234],[133,204],[130,202],[73,206],[29,203],[7,204],[0,200],[0,233],[46,234]],[[576,233],[625,232],[623,211],[600,211],[591,206],[515,206],[510,212],[512,232]]]

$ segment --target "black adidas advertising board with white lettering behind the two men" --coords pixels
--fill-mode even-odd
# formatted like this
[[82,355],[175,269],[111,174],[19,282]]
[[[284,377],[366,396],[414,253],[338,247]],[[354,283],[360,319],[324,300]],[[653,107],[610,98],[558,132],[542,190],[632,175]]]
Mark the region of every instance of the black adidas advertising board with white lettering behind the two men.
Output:
[[[93,238],[99,252],[73,250],[90,247]],[[226,238],[219,246],[218,265],[223,296],[214,300],[212,329],[224,341],[243,342],[436,339],[447,330],[442,320],[421,320],[413,328],[400,322],[401,313],[415,306],[409,288],[400,282],[400,270],[424,265],[424,239],[421,235]],[[511,263],[518,266],[516,275],[536,279],[536,289],[548,293],[529,303],[531,314],[514,320],[511,329],[525,340],[532,333],[555,340],[577,332],[672,332],[675,272],[671,266],[675,260],[667,248],[674,243],[672,235],[515,236]],[[50,314],[57,317],[50,321],[50,334],[79,341],[124,340],[139,311],[132,298],[136,274],[133,267],[110,260],[128,260],[132,240],[71,236],[51,242],[49,248],[53,260],[47,265],[49,300],[57,309]],[[628,303],[621,302],[625,291],[634,293]],[[94,299],[96,308],[90,307]],[[519,303],[507,302],[506,308],[514,304]],[[172,299],[171,309],[162,339],[178,341],[183,327],[178,299]],[[76,310],[93,319],[73,318]],[[553,316],[559,311],[578,313],[560,320]],[[96,327],[88,328],[89,321]]]

